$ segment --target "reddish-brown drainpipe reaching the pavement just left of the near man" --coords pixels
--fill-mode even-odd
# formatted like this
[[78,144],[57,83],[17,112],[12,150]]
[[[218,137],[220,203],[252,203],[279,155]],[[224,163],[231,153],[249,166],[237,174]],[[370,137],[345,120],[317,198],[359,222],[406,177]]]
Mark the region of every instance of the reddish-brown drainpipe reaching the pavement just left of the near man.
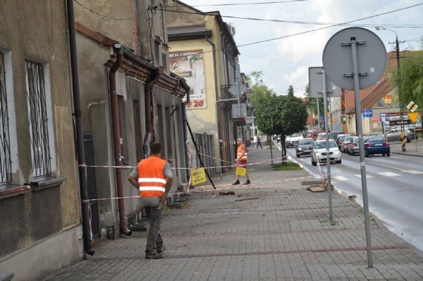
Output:
[[123,199],[123,180],[122,180],[122,157],[120,146],[120,128],[119,128],[119,111],[118,111],[118,96],[116,93],[116,71],[123,62],[123,47],[122,44],[115,43],[113,47],[116,49],[116,62],[109,70],[109,87],[110,87],[110,103],[112,110],[112,124],[113,124],[113,144],[115,156],[115,173],[116,173],[116,188],[118,192],[118,206],[119,206],[119,224],[120,232],[131,236],[132,231],[128,229],[125,217],[125,201]]

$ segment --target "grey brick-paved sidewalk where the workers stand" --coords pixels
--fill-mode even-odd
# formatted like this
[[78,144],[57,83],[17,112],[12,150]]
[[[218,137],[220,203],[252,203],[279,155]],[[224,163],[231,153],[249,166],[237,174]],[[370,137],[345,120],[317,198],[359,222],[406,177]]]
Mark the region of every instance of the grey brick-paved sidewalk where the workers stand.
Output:
[[[266,148],[250,147],[249,163],[268,160]],[[251,186],[234,188],[233,173],[213,179],[234,195],[219,195],[207,184],[185,197],[185,208],[167,209],[163,259],[144,259],[146,233],[138,232],[94,244],[93,257],[48,280],[423,280],[422,252],[374,217],[374,268],[368,269],[361,208],[333,192],[329,221],[328,193],[307,191],[305,171],[273,171],[266,163],[249,166],[249,173]]]

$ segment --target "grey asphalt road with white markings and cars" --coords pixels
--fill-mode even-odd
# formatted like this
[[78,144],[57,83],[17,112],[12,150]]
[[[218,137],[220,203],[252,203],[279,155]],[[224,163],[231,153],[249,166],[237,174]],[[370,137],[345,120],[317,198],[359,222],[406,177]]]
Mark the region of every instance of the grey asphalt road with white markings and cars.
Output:
[[[287,153],[310,174],[321,176],[309,156],[295,157],[295,148],[288,148]],[[423,158],[391,153],[390,157],[366,157],[365,163],[369,211],[392,232],[423,250]],[[326,165],[322,168],[326,174]],[[332,184],[340,192],[356,195],[362,206],[360,173],[358,155],[343,153],[342,164],[331,164]]]

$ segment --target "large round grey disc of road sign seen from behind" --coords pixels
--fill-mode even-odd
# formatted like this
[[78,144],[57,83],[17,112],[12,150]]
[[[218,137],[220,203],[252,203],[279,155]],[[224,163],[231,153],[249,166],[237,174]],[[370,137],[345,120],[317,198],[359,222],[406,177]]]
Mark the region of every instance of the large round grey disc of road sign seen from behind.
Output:
[[[353,41],[354,40],[354,41]],[[352,42],[356,42],[359,88],[376,83],[386,67],[386,49],[380,38],[365,28],[349,27],[335,33],[323,51],[323,68],[336,85],[354,89]]]

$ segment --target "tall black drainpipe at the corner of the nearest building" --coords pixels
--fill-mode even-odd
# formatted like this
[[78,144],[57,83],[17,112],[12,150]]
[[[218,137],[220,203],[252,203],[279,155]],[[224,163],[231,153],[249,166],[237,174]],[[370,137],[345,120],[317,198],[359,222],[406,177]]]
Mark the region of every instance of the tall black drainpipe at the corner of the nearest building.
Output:
[[73,110],[75,118],[75,137],[78,157],[79,192],[81,197],[82,234],[84,238],[84,251],[88,255],[94,255],[95,250],[91,248],[91,223],[89,220],[89,201],[87,190],[87,177],[85,173],[85,152],[84,139],[82,134],[81,104],[79,98],[78,59],[76,56],[75,18],[73,14],[73,1],[68,0],[68,29],[70,68],[72,72]]

